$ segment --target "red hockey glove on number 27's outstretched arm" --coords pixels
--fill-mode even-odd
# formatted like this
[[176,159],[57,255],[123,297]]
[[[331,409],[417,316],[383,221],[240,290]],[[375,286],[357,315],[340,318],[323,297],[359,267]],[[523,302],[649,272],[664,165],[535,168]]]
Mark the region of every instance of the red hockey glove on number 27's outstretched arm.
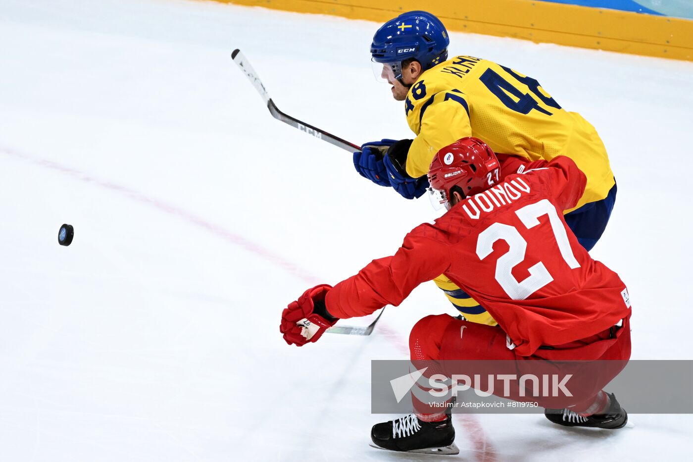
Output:
[[320,284],[308,289],[295,302],[281,312],[279,332],[291,345],[303,346],[317,341],[328,327],[335,325],[337,318],[330,316],[325,309],[325,296],[332,286]]

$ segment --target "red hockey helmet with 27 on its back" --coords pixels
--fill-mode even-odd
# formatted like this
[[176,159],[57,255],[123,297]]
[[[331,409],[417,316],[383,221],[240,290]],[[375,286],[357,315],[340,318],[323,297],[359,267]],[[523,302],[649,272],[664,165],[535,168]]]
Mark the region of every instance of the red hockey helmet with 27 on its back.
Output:
[[500,163],[489,145],[475,137],[458,139],[433,157],[428,169],[432,203],[450,209],[451,189],[464,196],[486,191],[499,180]]

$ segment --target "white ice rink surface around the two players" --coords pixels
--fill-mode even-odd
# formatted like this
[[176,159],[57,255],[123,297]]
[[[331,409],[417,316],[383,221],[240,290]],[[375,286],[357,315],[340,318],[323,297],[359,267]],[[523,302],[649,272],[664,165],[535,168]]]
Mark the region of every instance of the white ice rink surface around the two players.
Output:
[[[0,1],[0,461],[423,460],[367,445],[388,417],[369,413],[369,361],[405,358],[416,320],[451,312],[435,286],[369,337],[298,349],[277,327],[308,286],[435,214],[272,119],[230,58],[242,49],[299,119],[357,144],[407,137],[369,69],[376,27],[199,1]],[[693,64],[451,40],[597,127],[619,192],[593,255],[629,285],[633,358],[691,359]],[[470,461],[693,456],[691,416],[615,432],[455,421]]]

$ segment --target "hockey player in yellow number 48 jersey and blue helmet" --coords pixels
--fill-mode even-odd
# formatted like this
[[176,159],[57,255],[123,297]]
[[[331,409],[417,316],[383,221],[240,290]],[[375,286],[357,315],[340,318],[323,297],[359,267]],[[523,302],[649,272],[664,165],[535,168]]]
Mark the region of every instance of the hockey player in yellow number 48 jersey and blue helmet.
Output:
[[[582,246],[593,248],[616,197],[606,148],[595,128],[577,112],[561,108],[534,78],[473,56],[448,60],[449,43],[443,23],[425,11],[403,13],[378,29],[371,44],[374,71],[392,85],[394,99],[404,101],[416,137],[363,145],[354,153],[356,170],[412,199],[428,188],[433,156],[463,137],[483,139],[494,152],[526,161],[566,155],[585,173],[587,186],[576,207],[565,210],[565,221]],[[489,178],[489,185],[495,180]],[[442,275],[435,282],[464,318],[495,325],[453,282]]]

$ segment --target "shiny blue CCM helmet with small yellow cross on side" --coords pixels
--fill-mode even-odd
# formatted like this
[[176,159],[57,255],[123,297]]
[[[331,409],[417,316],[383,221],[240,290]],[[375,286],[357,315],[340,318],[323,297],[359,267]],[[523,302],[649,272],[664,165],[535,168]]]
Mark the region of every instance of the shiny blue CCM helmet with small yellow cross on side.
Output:
[[449,44],[448,31],[440,19],[430,12],[410,11],[390,19],[376,31],[371,56],[401,81],[403,61],[414,58],[425,71],[448,59]]

